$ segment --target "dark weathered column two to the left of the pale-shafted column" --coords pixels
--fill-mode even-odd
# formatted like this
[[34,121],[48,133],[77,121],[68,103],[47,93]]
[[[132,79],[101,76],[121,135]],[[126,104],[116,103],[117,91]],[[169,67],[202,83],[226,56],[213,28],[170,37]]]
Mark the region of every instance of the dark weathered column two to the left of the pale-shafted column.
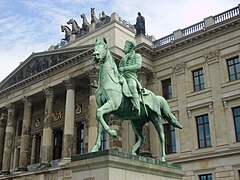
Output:
[[31,111],[32,102],[29,97],[22,98],[24,103],[23,122],[22,122],[22,135],[21,135],[21,148],[18,171],[27,171],[29,146],[30,146],[30,129],[31,129]]

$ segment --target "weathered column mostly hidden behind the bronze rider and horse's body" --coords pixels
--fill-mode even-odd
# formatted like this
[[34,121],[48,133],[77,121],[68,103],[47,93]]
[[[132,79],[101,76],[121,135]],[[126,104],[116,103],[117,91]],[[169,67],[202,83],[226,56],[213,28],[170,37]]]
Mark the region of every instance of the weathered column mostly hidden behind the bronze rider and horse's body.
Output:
[[[147,85],[147,72],[145,72],[143,69],[141,69],[141,71],[138,73],[138,79],[139,82],[141,83],[141,85],[143,87],[146,87]],[[150,127],[149,127],[149,123],[146,123],[143,126],[143,136],[144,136],[144,140],[143,140],[143,144],[140,147],[140,155],[142,156],[147,156],[147,157],[152,157],[152,153],[150,150]]]

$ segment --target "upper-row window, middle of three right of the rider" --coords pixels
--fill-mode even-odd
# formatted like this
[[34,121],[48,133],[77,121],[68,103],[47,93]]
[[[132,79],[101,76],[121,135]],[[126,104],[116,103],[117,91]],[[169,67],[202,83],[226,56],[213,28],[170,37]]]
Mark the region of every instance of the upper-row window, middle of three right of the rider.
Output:
[[193,74],[194,91],[200,91],[202,89],[205,89],[203,68],[194,70],[192,74]]

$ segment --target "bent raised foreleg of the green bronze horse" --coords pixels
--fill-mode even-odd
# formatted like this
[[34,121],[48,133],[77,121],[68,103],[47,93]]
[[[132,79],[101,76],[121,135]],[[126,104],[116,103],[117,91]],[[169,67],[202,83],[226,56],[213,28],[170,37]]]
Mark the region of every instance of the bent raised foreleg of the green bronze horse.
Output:
[[114,103],[110,100],[107,101],[103,106],[101,106],[100,108],[97,109],[97,120],[101,123],[103,129],[112,137],[116,137],[117,136],[117,132],[113,129],[110,129],[110,127],[108,126],[108,124],[106,123],[106,121],[103,118],[103,115],[108,114],[114,110],[116,110],[117,108],[113,105]]

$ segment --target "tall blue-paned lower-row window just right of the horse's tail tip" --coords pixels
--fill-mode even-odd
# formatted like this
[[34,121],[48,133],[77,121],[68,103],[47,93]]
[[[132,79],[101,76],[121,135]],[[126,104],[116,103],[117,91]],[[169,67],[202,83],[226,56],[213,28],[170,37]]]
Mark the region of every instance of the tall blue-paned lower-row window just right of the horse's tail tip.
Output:
[[208,115],[196,117],[197,133],[198,133],[198,147],[204,148],[211,146],[210,128],[208,122]]

